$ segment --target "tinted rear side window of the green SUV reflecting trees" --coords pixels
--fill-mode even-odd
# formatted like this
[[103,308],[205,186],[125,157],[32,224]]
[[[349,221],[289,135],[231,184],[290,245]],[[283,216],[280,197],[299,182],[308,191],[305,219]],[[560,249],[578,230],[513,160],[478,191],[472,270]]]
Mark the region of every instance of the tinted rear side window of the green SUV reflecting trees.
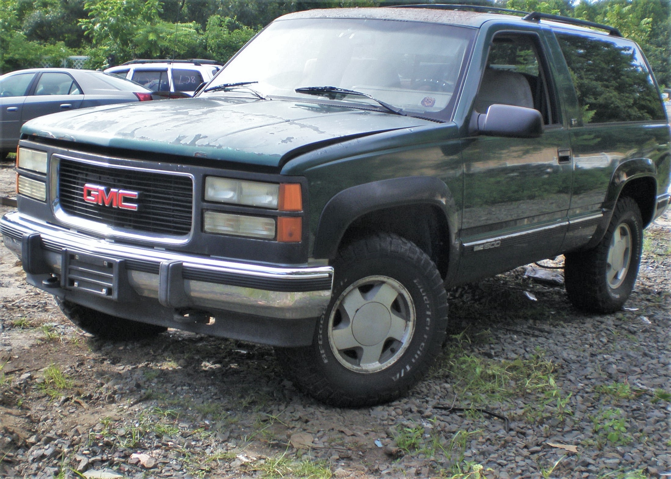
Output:
[[633,42],[556,33],[573,78],[583,123],[664,120],[643,54]]

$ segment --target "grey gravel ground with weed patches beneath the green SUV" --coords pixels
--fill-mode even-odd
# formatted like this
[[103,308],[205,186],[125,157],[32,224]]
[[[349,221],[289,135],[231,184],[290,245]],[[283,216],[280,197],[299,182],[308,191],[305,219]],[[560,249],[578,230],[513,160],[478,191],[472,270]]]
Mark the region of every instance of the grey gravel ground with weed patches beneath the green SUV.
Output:
[[[0,164],[0,191],[13,178]],[[0,476],[661,478],[670,230],[670,213],[646,230],[635,291],[613,315],[576,311],[530,266],[450,291],[440,361],[369,409],[302,396],[271,348],[174,330],[93,339],[0,247]]]

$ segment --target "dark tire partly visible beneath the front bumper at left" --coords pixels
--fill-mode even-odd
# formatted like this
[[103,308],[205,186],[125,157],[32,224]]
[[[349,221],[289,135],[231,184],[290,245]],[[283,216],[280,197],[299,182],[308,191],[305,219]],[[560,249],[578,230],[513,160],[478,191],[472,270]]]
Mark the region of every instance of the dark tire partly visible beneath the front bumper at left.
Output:
[[153,324],[140,323],[117,316],[101,313],[70,301],[56,299],[60,311],[74,325],[101,339],[142,339],[164,333],[168,328]]

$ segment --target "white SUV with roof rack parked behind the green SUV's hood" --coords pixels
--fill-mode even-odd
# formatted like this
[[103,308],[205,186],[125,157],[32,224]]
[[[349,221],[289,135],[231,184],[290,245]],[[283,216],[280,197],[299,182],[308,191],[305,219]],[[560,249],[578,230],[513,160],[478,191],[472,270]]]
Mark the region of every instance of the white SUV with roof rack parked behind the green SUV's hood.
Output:
[[221,68],[214,60],[131,60],[105,70],[170,98],[193,97]]

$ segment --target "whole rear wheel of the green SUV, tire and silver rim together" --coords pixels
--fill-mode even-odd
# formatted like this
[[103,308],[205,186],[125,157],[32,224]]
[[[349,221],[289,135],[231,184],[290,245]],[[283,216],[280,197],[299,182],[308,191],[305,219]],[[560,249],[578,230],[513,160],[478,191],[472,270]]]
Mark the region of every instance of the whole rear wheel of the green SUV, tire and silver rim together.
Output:
[[592,313],[622,309],[636,282],[642,246],[641,211],[633,199],[623,197],[601,242],[592,250],[566,254],[569,301]]

